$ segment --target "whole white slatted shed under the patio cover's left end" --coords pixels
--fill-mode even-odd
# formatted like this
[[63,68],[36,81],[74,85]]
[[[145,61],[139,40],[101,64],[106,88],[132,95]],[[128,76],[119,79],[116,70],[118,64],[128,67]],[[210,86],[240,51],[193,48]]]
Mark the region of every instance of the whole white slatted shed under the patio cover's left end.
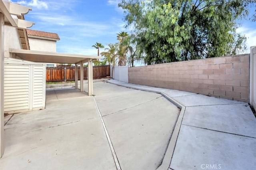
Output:
[[4,58],[5,113],[44,109],[45,71],[45,64]]

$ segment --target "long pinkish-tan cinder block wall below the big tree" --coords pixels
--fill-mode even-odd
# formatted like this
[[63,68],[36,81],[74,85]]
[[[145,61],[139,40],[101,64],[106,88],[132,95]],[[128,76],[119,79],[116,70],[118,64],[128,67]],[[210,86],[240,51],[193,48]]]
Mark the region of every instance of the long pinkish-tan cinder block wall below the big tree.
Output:
[[128,68],[128,81],[249,102],[249,54]]

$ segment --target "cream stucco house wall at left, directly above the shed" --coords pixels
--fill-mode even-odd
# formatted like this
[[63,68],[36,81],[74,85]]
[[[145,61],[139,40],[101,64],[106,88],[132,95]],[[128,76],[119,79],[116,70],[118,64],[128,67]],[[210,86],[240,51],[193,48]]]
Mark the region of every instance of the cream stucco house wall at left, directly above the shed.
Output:
[[11,57],[9,48],[22,49],[20,36],[17,28],[4,26],[4,57]]

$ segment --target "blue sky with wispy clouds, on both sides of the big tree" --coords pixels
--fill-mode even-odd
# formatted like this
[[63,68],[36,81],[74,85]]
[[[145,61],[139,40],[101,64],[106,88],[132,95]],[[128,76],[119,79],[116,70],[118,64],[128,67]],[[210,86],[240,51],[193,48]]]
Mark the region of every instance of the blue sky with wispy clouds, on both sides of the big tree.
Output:
[[[57,52],[97,55],[92,47],[99,42],[107,46],[115,43],[116,33],[124,28],[124,15],[118,8],[120,0],[12,0],[32,7],[25,20],[36,24],[30,29],[58,33]],[[254,9],[251,9],[254,12]],[[252,14],[252,13],[251,13]],[[237,31],[246,35],[248,49],[256,45],[256,22],[240,21]],[[104,49],[101,49],[104,51]]]

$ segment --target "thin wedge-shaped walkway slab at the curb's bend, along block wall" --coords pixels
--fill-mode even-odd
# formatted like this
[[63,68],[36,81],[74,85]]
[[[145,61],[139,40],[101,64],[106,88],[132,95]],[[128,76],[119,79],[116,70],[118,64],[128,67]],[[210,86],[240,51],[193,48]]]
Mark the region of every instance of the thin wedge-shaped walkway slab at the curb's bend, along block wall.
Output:
[[221,104],[242,104],[244,102],[238,102],[235,100],[221,99],[210,96],[204,96],[201,94],[173,97],[174,100],[182,105],[189,106],[206,106],[206,105],[221,105]]

